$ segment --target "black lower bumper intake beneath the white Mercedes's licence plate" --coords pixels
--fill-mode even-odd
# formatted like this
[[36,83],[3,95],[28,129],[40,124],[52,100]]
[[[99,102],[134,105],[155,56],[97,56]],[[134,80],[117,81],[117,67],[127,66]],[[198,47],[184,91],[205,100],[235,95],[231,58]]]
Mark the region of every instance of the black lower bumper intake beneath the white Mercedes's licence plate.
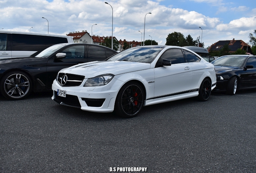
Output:
[[78,100],[78,97],[77,96],[74,96],[74,95],[66,95],[66,97],[60,97],[57,95],[57,91],[54,91],[54,94],[55,94],[55,101],[58,102],[58,103],[65,103],[66,105],[69,105],[69,106],[74,106],[74,107],[80,107],[81,108],[81,105],[80,105],[80,102]]

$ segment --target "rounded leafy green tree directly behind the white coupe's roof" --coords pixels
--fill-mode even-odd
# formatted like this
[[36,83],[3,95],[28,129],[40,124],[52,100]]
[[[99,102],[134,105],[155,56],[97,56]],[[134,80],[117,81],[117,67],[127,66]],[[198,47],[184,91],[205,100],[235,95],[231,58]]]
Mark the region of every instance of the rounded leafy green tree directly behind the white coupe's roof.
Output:
[[180,32],[168,34],[165,45],[169,46],[186,46],[186,39]]

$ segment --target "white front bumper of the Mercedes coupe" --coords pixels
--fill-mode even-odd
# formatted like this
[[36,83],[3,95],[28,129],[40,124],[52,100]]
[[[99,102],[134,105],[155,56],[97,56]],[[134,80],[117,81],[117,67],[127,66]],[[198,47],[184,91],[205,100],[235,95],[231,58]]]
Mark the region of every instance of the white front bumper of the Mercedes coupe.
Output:
[[[62,87],[54,80],[52,100],[60,105],[81,108],[84,111],[113,112],[118,91],[124,82],[113,78],[111,82],[104,86],[83,87],[84,82],[78,87]],[[66,91],[66,97],[58,96],[58,89]]]

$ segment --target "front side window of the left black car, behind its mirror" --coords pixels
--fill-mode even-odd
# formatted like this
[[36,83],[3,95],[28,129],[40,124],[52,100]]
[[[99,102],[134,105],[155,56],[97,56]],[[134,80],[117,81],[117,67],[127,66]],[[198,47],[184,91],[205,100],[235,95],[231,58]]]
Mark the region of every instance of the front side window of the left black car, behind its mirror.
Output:
[[65,53],[64,59],[81,59],[85,58],[85,46],[72,46],[62,50],[61,53]]

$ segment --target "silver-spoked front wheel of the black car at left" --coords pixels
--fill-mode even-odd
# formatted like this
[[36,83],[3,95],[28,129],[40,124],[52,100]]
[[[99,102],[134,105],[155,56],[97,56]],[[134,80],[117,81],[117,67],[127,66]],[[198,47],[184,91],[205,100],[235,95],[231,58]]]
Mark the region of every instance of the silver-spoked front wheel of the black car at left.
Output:
[[1,78],[0,91],[9,100],[25,99],[32,90],[30,77],[22,71],[11,71]]

